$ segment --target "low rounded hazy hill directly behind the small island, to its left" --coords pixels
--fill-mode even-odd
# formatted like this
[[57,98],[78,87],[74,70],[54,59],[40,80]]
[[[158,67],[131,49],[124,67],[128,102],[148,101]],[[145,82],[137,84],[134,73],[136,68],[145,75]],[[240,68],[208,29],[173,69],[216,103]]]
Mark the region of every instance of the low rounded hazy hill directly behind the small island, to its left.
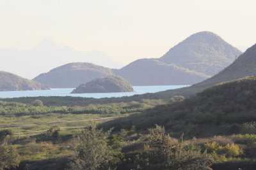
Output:
[[72,62],[42,73],[33,80],[51,88],[75,88],[95,78],[109,76],[111,69],[88,62]]

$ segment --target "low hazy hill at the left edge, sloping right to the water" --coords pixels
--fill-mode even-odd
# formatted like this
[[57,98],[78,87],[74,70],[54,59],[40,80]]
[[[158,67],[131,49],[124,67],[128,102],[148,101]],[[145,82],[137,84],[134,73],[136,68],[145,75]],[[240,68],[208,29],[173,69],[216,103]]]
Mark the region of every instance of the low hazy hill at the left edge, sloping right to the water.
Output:
[[47,90],[45,85],[22,78],[12,73],[0,71],[0,91]]

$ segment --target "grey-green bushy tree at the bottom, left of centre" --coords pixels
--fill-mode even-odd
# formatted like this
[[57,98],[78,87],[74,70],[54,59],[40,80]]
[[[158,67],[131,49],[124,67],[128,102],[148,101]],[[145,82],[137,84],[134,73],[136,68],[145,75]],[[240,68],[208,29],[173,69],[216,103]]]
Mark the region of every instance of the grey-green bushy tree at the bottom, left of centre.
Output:
[[76,157],[70,163],[71,169],[115,169],[124,157],[122,137],[97,129],[95,122],[90,129],[84,129],[78,135]]

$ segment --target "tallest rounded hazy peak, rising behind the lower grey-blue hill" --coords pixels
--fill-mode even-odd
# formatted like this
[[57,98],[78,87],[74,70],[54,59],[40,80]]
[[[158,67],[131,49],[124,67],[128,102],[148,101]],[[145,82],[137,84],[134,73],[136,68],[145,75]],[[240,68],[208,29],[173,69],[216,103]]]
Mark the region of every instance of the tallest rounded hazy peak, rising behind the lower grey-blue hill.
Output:
[[189,36],[171,48],[159,60],[214,76],[230,65],[241,53],[220,36],[203,31]]

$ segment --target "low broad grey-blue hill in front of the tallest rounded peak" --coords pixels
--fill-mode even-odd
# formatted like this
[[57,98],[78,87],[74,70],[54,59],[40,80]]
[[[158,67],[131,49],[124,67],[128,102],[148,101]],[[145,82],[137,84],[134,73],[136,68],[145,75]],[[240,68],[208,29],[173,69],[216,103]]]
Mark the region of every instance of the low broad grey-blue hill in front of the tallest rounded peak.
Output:
[[203,73],[189,71],[175,64],[156,59],[140,59],[113,73],[122,76],[132,85],[190,85],[209,78]]

